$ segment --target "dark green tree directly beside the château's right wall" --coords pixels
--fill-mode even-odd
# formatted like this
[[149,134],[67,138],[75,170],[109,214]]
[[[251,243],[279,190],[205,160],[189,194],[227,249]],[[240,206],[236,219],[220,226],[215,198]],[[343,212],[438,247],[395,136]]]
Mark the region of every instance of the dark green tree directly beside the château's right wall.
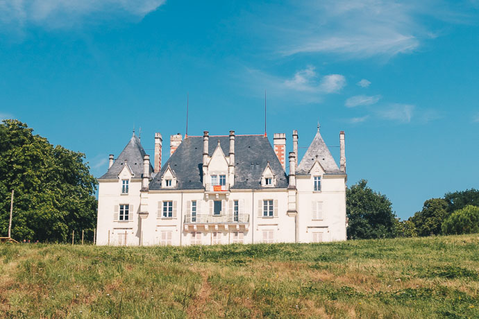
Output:
[[367,187],[367,180],[360,180],[346,189],[346,215],[348,239],[392,237],[395,215],[392,204],[385,195]]

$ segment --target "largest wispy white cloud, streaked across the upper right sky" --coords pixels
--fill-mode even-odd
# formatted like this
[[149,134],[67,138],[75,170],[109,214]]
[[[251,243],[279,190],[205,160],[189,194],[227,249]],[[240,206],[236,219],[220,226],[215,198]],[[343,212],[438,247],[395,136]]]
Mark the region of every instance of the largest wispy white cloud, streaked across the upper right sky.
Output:
[[[301,4],[299,4],[301,3]],[[324,0],[298,2],[289,28],[276,25],[283,55],[333,53],[347,58],[390,58],[416,51],[435,37],[427,18],[461,22],[460,6],[443,0]],[[469,17],[473,19],[473,17]]]

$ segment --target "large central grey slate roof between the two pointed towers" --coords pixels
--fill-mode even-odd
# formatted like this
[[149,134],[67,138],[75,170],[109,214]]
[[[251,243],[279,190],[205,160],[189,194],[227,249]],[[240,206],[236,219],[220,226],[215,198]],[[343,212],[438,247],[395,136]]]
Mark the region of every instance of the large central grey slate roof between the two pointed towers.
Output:
[[[228,136],[211,135],[208,144],[208,155],[212,156],[217,148],[218,140],[221,150],[229,154],[230,140]],[[260,189],[261,174],[269,162],[276,175],[276,187],[288,186],[287,176],[267,137],[262,135],[235,136],[235,184],[231,189]],[[169,160],[163,165],[160,173],[150,182],[150,189],[161,189],[161,177],[168,165],[176,174],[175,189],[203,189],[203,137],[187,137]]]

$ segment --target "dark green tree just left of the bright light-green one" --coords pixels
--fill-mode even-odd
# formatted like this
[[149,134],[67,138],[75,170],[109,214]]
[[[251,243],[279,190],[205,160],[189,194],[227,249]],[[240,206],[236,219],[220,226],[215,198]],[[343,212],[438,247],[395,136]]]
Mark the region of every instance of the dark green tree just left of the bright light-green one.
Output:
[[419,236],[441,234],[442,223],[449,216],[447,207],[448,203],[442,198],[426,200],[423,209],[410,218],[416,226],[417,234]]

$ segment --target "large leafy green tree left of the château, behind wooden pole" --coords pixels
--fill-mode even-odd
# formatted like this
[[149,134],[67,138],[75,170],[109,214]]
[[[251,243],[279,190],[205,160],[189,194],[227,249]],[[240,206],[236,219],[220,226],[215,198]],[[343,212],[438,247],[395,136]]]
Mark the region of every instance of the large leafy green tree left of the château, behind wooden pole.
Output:
[[96,223],[96,180],[85,155],[53,146],[25,123],[0,125],[0,234],[8,232],[15,190],[12,238],[66,241]]

